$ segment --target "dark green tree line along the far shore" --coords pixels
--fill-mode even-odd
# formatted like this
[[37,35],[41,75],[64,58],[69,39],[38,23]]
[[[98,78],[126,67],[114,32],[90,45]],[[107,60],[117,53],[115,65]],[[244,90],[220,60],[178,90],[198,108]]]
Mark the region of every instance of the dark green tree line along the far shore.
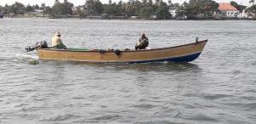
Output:
[[[240,12],[246,9],[248,12],[256,14],[255,0],[250,0],[253,5],[250,8],[231,1],[230,4],[237,8]],[[6,4],[0,6],[0,14],[24,14],[25,12],[33,12],[37,9],[43,10],[44,14],[51,16],[61,15],[79,15],[80,17],[86,16],[100,16],[102,14],[108,14],[108,16],[124,16],[131,18],[131,16],[140,16],[143,19],[150,19],[155,16],[156,19],[170,19],[174,15],[169,13],[170,8],[177,9],[176,17],[186,16],[189,19],[202,17],[212,17],[214,12],[218,12],[218,3],[213,0],[189,0],[189,3],[184,2],[182,4],[172,3],[172,0],[164,2],[163,0],[129,0],[128,2],[113,3],[109,0],[108,3],[102,3],[100,0],[86,0],[84,5],[75,7],[73,3],[64,0],[62,3],[59,0],[55,0],[55,4],[45,6],[42,3],[40,6],[36,5],[24,5],[19,2],[15,2],[12,5]]]

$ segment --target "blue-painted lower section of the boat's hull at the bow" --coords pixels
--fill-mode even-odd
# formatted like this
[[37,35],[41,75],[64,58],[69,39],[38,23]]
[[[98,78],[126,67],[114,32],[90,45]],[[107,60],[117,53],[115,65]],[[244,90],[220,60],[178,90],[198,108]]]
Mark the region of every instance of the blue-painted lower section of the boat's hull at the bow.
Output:
[[147,63],[147,62],[164,62],[164,61],[168,61],[168,62],[189,62],[192,61],[196,58],[198,58],[198,56],[201,53],[197,53],[197,54],[189,54],[189,55],[185,55],[185,56],[181,56],[181,57],[174,57],[174,58],[168,58],[168,59],[152,59],[152,60],[143,60],[143,61],[133,61],[133,62],[129,62],[129,63]]

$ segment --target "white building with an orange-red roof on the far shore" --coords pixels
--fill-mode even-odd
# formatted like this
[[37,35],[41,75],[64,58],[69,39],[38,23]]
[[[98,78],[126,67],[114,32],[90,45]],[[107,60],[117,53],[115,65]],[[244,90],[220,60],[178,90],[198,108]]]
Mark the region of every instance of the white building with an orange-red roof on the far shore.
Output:
[[234,18],[239,14],[239,10],[230,3],[218,3],[218,10],[222,16],[227,18]]

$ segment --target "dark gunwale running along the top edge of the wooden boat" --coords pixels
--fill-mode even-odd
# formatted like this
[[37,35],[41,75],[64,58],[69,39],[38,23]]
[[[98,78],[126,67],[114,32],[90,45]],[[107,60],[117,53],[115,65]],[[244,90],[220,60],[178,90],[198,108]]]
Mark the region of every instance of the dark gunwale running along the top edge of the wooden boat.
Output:
[[[149,52],[149,51],[157,51],[157,50],[164,50],[164,49],[170,49],[170,48],[180,48],[180,47],[185,47],[185,46],[190,46],[190,45],[196,45],[196,44],[201,44],[204,42],[207,42],[208,40],[203,40],[200,42],[192,42],[188,44],[183,44],[183,45],[178,45],[174,47],[169,47],[169,48],[154,48],[154,49],[143,49],[143,50],[120,50],[122,53],[130,53],[130,52]],[[46,50],[46,51],[57,51],[57,52],[82,52],[82,53],[97,53],[102,49],[93,49],[93,50],[68,50],[68,49],[57,49],[57,48],[38,48],[39,50]],[[37,49],[37,50],[38,50]],[[118,50],[118,49],[115,49]],[[105,53],[114,53],[115,50],[106,50],[104,51]]]

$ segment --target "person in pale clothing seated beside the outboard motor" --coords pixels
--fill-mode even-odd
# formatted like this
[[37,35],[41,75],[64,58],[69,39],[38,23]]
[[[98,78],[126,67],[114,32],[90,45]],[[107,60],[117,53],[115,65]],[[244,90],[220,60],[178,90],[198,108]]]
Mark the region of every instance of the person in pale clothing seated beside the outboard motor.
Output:
[[60,31],[55,32],[55,36],[52,37],[51,45],[52,45],[52,48],[63,48],[63,49],[67,48],[61,41]]

